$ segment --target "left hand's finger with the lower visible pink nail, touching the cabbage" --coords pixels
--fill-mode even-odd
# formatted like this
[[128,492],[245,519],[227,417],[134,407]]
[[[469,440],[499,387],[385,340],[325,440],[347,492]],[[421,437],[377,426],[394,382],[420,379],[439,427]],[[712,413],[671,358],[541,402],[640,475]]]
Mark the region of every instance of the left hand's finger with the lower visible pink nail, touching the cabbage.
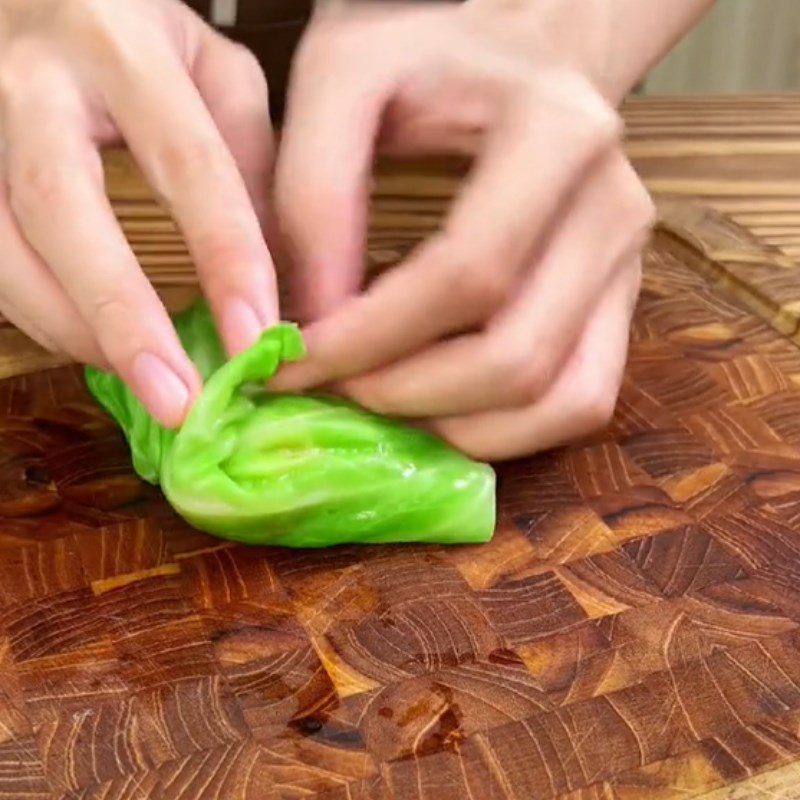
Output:
[[[103,190],[99,154],[84,138],[68,89],[34,88],[6,108],[10,204],[103,354],[163,424],[180,424],[199,377],[123,236]],[[42,109],[46,109],[43,111]]]

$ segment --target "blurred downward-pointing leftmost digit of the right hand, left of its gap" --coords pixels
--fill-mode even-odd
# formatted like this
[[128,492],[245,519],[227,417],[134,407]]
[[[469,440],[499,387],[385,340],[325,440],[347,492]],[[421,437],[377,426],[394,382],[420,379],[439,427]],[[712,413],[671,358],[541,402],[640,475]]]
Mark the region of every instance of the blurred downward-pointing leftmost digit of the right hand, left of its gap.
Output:
[[280,225],[294,256],[298,314],[318,319],[363,274],[374,141],[391,86],[391,54],[371,68],[349,27],[318,24],[295,60],[276,169]]

